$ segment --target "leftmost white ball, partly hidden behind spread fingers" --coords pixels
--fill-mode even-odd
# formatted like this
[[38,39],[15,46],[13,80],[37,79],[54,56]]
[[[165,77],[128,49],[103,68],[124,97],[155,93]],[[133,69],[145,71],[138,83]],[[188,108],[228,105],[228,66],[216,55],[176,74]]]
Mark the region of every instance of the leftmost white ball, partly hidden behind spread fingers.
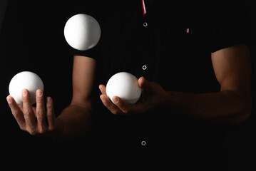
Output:
[[36,90],[43,90],[43,81],[36,73],[29,71],[17,73],[9,84],[9,93],[16,103],[23,104],[21,91],[25,88],[29,90],[31,103],[34,104],[36,103]]

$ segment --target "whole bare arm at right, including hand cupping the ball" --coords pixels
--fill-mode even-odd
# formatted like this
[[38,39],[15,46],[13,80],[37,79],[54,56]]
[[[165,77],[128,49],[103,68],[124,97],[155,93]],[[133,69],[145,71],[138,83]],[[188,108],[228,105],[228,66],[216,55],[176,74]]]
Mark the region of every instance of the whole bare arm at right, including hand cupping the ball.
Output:
[[138,103],[130,105],[120,98],[113,103],[101,85],[101,100],[113,114],[143,113],[150,108],[168,106],[170,110],[188,117],[211,120],[217,123],[243,123],[250,115],[252,100],[250,90],[250,53],[245,45],[232,46],[212,53],[213,68],[221,85],[217,93],[179,93],[165,91],[157,83],[140,78],[143,94]]

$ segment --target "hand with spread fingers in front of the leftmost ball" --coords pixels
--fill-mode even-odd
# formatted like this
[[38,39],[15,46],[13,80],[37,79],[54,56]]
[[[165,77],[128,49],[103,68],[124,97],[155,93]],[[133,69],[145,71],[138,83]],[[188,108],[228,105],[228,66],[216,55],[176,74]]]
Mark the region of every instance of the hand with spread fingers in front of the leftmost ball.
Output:
[[55,127],[53,100],[50,97],[47,98],[45,109],[42,90],[36,90],[36,108],[32,107],[29,91],[26,89],[22,90],[23,105],[17,104],[11,95],[6,100],[21,130],[31,135],[45,135],[53,132]]

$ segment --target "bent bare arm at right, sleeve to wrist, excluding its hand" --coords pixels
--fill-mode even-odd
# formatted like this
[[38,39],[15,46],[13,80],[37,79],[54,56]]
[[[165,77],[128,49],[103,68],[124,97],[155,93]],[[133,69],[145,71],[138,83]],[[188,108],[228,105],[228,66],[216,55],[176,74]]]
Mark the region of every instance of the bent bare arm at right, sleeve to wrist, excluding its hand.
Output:
[[168,93],[168,103],[180,113],[218,123],[242,123],[251,111],[251,64],[247,46],[212,53],[213,68],[221,85],[218,93]]

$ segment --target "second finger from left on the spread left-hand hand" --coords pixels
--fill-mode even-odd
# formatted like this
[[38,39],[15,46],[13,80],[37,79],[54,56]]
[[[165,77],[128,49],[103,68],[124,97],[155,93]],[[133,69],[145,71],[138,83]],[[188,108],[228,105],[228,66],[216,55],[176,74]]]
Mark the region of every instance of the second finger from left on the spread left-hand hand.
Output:
[[24,119],[26,121],[26,125],[28,126],[28,132],[33,134],[34,129],[36,128],[36,118],[31,105],[29,90],[26,90],[26,89],[22,90],[22,100],[23,100]]

